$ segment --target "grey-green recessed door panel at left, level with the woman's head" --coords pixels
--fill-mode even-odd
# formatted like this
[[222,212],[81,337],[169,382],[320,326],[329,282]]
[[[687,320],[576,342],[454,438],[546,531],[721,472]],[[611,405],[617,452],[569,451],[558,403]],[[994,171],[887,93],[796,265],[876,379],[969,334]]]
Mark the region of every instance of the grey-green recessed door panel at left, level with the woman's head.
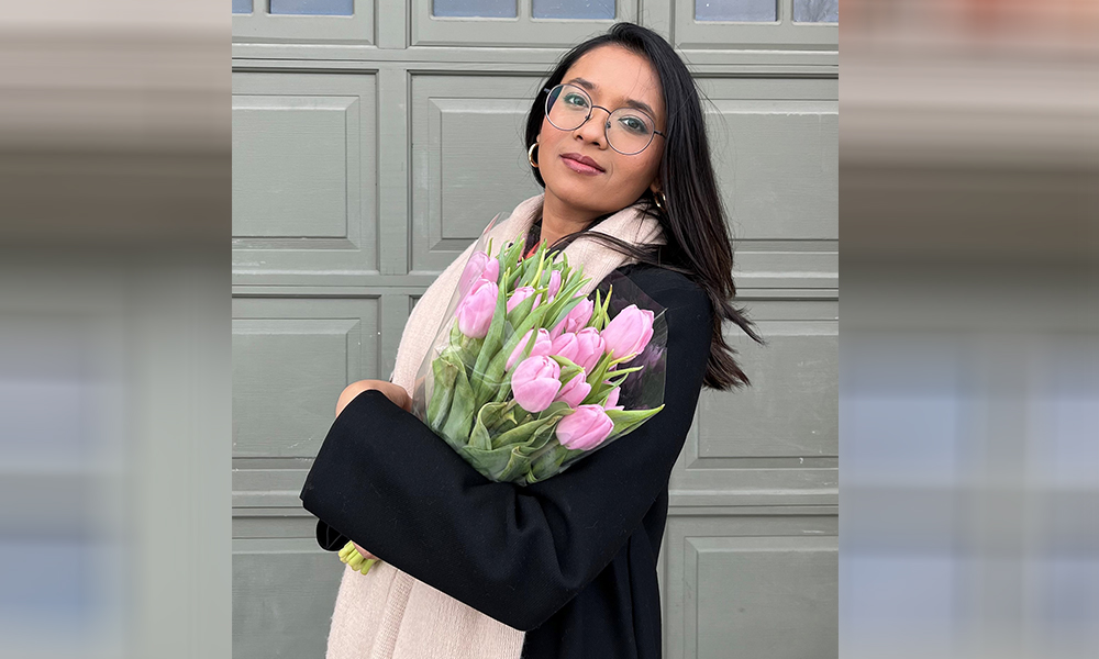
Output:
[[376,76],[233,75],[233,259],[377,272]]

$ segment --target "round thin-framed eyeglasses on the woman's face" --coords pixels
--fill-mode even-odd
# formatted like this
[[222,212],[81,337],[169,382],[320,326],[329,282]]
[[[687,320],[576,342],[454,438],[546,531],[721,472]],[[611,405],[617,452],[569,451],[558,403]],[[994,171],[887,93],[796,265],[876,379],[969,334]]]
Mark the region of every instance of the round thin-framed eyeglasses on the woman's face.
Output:
[[543,91],[550,92],[546,97],[546,119],[560,131],[579,129],[596,108],[606,112],[607,144],[623,156],[635,156],[645,150],[654,135],[667,139],[667,135],[656,130],[656,121],[636,108],[619,108],[611,112],[592,104],[588,92],[575,85],[558,85]]

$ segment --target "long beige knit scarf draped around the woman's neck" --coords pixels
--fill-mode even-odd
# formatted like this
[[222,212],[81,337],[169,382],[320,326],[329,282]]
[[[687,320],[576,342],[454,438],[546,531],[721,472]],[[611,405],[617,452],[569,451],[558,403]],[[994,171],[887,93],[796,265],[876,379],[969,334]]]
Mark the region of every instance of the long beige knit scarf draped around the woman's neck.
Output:
[[[543,196],[519,204],[489,230],[492,249],[524,239],[542,208]],[[606,233],[636,245],[665,242],[659,223],[634,204],[607,217],[592,233]],[[469,245],[417,303],[404,325],[392,381],[413,391],[417,372],[457,287]],[[587,295],[614,269],[634,263],[595,241],[565,248],[568,263],[584,264]],[[369,547],[365,549],[369,550]],[[454,597],[380,561],[365,577],[344,569],[329,632],[326,659],[519,659],[525,633],[491,618]]]

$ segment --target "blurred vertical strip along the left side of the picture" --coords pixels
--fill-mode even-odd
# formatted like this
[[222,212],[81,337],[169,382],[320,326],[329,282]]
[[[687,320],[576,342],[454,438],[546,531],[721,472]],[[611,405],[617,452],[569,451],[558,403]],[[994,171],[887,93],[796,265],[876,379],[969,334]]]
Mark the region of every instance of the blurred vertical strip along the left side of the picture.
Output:
[[227,2],[0,8],[0,657],[229,657]]

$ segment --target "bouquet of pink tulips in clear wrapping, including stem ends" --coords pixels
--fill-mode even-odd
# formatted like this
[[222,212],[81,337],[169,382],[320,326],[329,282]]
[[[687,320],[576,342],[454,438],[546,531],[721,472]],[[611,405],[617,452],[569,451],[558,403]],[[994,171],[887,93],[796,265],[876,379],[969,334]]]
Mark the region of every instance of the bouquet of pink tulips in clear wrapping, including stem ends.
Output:
[[[486,234],[491,224],[486,228]],[[482,236],[420,367],[412,413],[487,479],[528,485],[664,409],[664,308],[619,272],[590,295],[582,265]],[[365,574],[352,543],[341,560]]]

